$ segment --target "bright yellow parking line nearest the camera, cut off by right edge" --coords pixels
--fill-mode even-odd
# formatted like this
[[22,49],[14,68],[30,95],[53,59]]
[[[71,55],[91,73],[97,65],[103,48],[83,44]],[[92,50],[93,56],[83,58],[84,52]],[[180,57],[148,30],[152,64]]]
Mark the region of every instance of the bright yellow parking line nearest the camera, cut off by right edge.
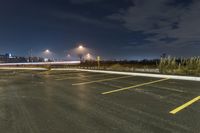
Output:
[[183,104],[183,105],[181,105],[181,106],[175,108],[174,110],[170,111],[169,113],[174,115],[174,114],[176,114],[177,112],[179,112],[179,111],[181,111],[182,109],[184,109],[184,108],[190,106],[191,104],[193,104],[194,102],[196,102],[196,101],[198,101],[198,100],[200,100],[200,96],[195,97],[194,99],[192,99],[192,100],[190,100],[189,102],[187,102],[187,103],[185,103],[185,104]]

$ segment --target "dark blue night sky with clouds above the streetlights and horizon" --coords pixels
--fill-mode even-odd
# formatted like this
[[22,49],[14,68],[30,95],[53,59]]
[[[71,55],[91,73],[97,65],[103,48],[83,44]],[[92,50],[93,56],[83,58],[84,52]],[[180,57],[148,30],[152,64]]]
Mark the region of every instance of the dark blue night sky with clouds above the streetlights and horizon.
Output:
[[64,58],[78,42],[104,59],[198,56],[200,1],[0,1],[0,53]]

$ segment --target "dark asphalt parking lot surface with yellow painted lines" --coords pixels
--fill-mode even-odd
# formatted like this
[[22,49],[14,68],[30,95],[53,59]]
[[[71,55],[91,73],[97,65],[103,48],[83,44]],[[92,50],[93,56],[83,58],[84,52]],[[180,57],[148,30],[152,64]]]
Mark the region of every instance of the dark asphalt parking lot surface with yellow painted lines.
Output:
[[0,71],[2,133],[199,133],[200,82]]

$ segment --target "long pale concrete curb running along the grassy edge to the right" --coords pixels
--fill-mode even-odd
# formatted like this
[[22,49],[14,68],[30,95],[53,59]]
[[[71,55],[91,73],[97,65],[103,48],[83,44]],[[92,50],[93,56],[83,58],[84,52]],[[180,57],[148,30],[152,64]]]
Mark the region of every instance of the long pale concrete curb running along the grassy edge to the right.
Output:
[[150,74],[150,73],[134,73],[134,72],[117,72],[117,71],[104,71],[104,70],[87,70],[87,69],[76,69],[76,68],[55,68],[51,70],[73,70],[73,71],[85,71],[85,72],[95,72],[95,73],[107,73],[107,74],[120,74],[120,75],[132,75],[132,76],[142,76],[142,77],[154,77],[154,78],[170,78],[178,80],[189,80],[189,81],[200,81],[200,77],[192,76],[177,76],[177,75],[163,75],[163,74]]

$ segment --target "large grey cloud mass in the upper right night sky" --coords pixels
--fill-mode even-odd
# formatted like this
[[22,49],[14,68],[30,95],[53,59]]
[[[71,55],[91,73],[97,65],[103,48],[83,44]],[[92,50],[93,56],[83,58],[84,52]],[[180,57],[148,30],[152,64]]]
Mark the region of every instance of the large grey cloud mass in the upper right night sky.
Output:
[[147,36],[145,40],[157,47],[185,47],[200,42],[200,1],[133,0],[133,3],[108,18],[131,31],[142,32]]

